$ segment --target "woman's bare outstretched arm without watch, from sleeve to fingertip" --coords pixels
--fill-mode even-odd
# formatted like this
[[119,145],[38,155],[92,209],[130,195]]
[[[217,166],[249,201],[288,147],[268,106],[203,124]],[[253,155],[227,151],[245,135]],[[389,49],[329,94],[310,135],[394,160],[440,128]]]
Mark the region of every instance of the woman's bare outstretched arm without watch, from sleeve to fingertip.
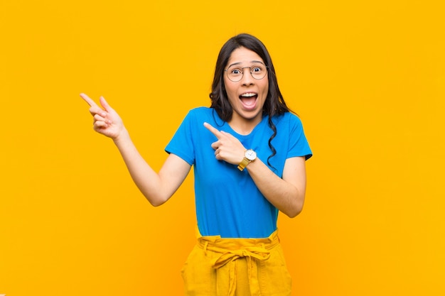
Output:
[[112,138],[124,159],[125,165],[136,186],[154,206],[166,202],[188,175],[191,165],[177,155],[168,155],[159,173],[156,173],[139,154],[132,142],[127,129],[114,109],[100,98],[100,106],[85,94],[80,94],[90,105],[90,113],[94,119],[94,130]]

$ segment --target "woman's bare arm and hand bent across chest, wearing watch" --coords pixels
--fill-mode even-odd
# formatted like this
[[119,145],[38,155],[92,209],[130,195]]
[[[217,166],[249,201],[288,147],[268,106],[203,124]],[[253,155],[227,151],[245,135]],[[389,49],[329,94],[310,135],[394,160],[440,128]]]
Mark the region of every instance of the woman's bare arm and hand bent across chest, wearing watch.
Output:
[[[246,150],[242,143],[230,133],[218,131],[210,124],[205,123],[204,126],[218,139],[212,143],[212,148],[215,149],[215,158],[225,160],[233,165],[241,163]],[[290,217],[301,212],[306,193],[304,157],[288,158],[284,164],[282,178],[275,175],[259,158],[247,165],[246,168],[259,191],[274,207]]]

